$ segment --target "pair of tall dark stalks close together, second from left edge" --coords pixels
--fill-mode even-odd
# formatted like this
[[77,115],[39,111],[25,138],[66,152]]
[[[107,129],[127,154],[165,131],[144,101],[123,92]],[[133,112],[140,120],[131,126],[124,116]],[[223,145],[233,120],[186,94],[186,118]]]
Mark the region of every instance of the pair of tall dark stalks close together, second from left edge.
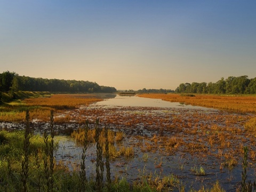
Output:
[[54,129],[53,129],[53,110],[51,110],[50,115],[50,131],[51,131],[51,141],[48,141],[47,132],[44,132],[44,143],[45,143],[45,157],[44,157],[44,172],[46,179],[47,191],[53,191],[53,168],[54,168]]

